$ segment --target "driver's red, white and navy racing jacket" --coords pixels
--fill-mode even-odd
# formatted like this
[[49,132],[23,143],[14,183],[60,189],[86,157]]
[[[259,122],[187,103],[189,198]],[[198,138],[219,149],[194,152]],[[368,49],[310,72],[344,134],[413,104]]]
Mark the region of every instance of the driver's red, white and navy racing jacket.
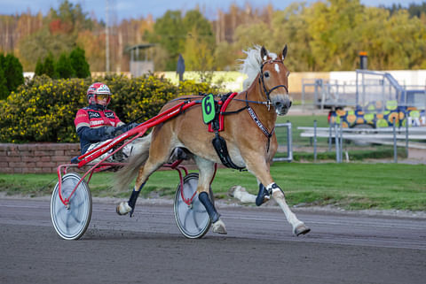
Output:
[[124,123],[114,111],[104,110],[99,104],[91,104],[77,111],[74,124],[83,155],[92,143],[113,138],[105,133],[106,127],[120,127]]

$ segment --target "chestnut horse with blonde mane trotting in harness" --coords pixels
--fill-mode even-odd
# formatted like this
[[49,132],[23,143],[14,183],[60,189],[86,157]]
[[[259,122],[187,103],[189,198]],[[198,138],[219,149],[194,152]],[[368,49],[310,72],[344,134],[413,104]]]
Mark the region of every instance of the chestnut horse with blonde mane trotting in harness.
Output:
[[[256,45],[243,51],[247,58],[241,59],[241,72],[248,75],[244,82],[248,88],[233,96],[227,106],[226,112],[233,114],[226,116],[220,137],[225,140],[231,164],[239,169],[247,168],[248,172],[256,176],[259,185],[256,204],[261,205],[272,196],[292,226],[293,233],[306,234],[310,232],[310,228],[289,209],[284,191],[273,181],[270,173],[272,157],[278,148],[273,131],[277,115],[287,114],[292,104],[288,95],[289,72],[284,65],[288,47],[285,45],[278,56],[264,46]],[[199,96],[193,97],[196,98]],[[183,99],[187,100],[188,97]],[[179,99],[170,101],[162,107],[162,111],[178,102]],[[138,155],[132,157],[118,172],[116,185],[121,189],[127,188],[137,177],[129,201],[119,203],[117,213],[130,213],[131,217],[138,194],[148,177],[167,163],[174,151],[182,149],[193,157],[198,166],[200,177],[197,192],[199,200],[209,213],[212,231],[226,234],[225,222],[209,199],[215,163],[223,161],[212,146],[215,136],[217,137],[217,133],[209,132],[208,126],[201,119],[201,104],[195,104],[177,117],[153,127],[152,132],[138,144]]]

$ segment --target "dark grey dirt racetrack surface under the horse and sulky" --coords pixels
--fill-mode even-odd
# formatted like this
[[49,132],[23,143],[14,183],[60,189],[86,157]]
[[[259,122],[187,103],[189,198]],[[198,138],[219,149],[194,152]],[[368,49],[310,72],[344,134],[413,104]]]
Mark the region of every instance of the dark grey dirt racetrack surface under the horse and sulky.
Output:
[[187,240],[170,204],[135,217],[93,204],[79,241],[59,239],[48,201],[0,199],[0,283],[425,283],[426,219],[219,207],[227,235]]

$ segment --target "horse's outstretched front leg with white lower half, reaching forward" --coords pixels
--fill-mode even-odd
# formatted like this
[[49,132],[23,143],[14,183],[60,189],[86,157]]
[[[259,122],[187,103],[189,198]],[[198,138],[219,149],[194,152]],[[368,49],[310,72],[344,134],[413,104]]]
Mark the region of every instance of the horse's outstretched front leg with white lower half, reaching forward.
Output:
[[[272,196],[273,199],[280,205],[282,211],[286,215],[288,223],[293,227],[293,233],[296,235],[306,234],[311,231],[311,229],[304,225],[304,222],[297,219],[296,214],[293,213],[288,207],[286,202],[286,196],[284,191],[272,180],[271,173],[269,172],[269,165],[264,161],[262,157],[254,157],[249,160],[246,160],[246,165],[248,171],[255,174],[258,181],[261,182],[259,185],[259,194],[257,195],[256,204],[260,205],[262,202],[259,200],[261,197],[268,199],[269,196]],[[263,185],[266,185],[263,187]],[[265,194],[263,194],[263,192]]]

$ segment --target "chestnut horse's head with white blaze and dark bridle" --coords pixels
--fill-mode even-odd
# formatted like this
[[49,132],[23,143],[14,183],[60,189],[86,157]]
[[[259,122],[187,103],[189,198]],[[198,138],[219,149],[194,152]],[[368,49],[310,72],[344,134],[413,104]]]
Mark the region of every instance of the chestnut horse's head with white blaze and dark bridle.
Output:
[[262,65],[260,67],[259,80],[263,88],[264,96],[271,102],[279,115],[287,114],[291,107],[291,98],[288,96],[288,69],[284,65],[287,56],[287,45],[279,56],[269,54],[262,47],[260,50]]

